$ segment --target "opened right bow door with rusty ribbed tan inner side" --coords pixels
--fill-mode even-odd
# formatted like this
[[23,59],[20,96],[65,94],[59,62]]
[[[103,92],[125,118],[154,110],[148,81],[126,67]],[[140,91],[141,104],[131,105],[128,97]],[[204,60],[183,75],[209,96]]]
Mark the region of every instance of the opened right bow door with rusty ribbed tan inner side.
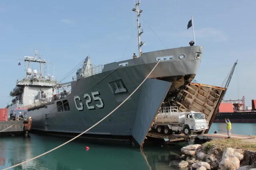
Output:
[[201,134],[208,133],[225,91],[226,88],[222,87],[190,83],[180,90],[172,106],[178,106],[180,111],[203,113],[206,121],[209,121],[209,128],[204,129]]

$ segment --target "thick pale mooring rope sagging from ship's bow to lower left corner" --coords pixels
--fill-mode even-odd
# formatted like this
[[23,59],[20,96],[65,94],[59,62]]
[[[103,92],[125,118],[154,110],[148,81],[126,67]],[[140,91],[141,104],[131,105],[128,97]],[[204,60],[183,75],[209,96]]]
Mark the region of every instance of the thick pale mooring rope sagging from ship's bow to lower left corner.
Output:
[[[150,76],[150,74],[154,71],[154,69],[156,68],[156,66],[158,65],[159,62],[160,62],[160,60],[156,63],[156,65],[155,65],[154,68],[151,70],[151,72],[148,74],[148,76]],[[140,83],[140,85],[132,92],[132,94],[134,94],[134,93],[138,90],[138,88],[146,81],[146,79],[148,78],[148,76],[146,76],[146,78],[145,78],[145,79]],[[109,115],[111,115],[114,111],[116,111],[116,109],[118,109],[120,106],[122,106],[122,104],[124,104],[124,102],[126,102],[126,100],[128,100],[128,98],[130,98],[130,97],[132,96],[132,94],[130,94],[119,106],[117,106],[113,111],[111,111],[111,112],[110,112],[108,115],[106,115],[103,119],[101,119],[100,121],[98,121],[96,124],[94,124],[92,127],[90,127],[89,129],[87,129],[86,131],[80,133],[80,134],[77,135],[76,137],[70,139],[69,141],[63,143],[62,145],[59,145],[58,147],[56,147],[56,148],[54,148],[54,149],[51,149],[51,150],[49,150],[49,151],[47,151],[47,152],[44,152],[44,153],[42,153],[42,154],[40,154],[40,155],[38,155],[38,156],[36,156],[36,157],[34,157],[34,158],[31,158],[31,159],[29,159],[29,160],[26,160],[26,161],[24,161],[24,162],[21,162],[21,163],[19,163],[19,164],[14,165],[14,166],[10,166],[9,168],[5,168],[5,169],[3,169],[3,170],[8,170],[8,169],[10,169],[10,168],[14,168],[14,167],[16,167],[16,166],[19,166],[19,165],[21,165],[21,164],[24,164],[24,163],[26,163],[26,162],[29,162],[30,160],[34,160],[34,159],[36,159],[36,158],[39,158],[39,157],[41,157],[41,156],[43,156],[43,155],[45,155],[45,154],[48,154],[49,152],[52,152],[53,150],[56,150],[56,149],[58,149],[58,148],[60,148],[60,147],[62,147],[62,146],[64,146],[64,145],[66,145],[67,143],[70,143],[71,141],[73,141],[74,139],[80,137],[82,134],[86,133],[87,131],[89,131],[90,129],[92,129],[94,126],[98,125],[100,122],[102,122],[104,119],[106,119]]]

